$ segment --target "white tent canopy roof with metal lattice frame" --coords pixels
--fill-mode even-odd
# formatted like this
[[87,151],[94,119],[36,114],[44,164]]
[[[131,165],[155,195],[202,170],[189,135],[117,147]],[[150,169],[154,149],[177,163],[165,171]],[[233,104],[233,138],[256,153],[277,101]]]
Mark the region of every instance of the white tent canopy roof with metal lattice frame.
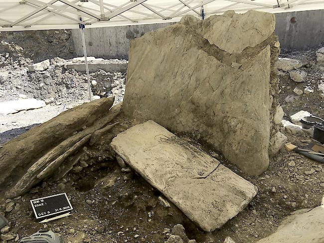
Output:
[[0,31],[175,22],[233,9],[286,12],[324,9],[324,0],[1,0]]

